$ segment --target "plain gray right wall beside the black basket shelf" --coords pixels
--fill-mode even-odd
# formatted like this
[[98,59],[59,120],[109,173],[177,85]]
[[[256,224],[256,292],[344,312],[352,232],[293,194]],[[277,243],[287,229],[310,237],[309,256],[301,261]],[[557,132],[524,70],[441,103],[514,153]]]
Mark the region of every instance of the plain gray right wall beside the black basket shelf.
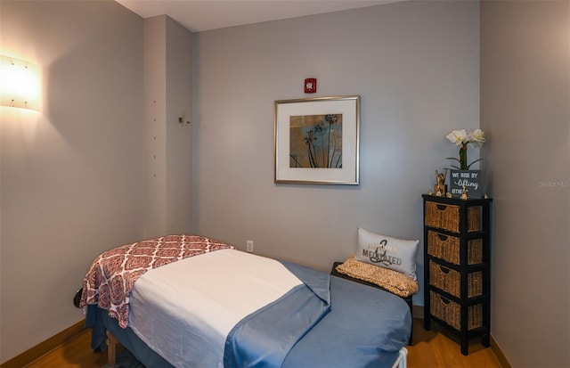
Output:
[[570,362],[570,3],[481,4],[493,192],[493,338],[514,367]]

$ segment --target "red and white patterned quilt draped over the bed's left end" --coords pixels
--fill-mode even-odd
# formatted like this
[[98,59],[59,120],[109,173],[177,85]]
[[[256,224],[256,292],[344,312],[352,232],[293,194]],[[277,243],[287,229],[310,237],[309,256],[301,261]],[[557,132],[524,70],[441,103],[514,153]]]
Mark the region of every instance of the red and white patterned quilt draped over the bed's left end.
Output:
[[121,328],[128,325],[129,296],[145,272],[171,262],[233,246],[195,235],[167,235],[110,249],[95,258],[83,280],[80,307],[96,304]]

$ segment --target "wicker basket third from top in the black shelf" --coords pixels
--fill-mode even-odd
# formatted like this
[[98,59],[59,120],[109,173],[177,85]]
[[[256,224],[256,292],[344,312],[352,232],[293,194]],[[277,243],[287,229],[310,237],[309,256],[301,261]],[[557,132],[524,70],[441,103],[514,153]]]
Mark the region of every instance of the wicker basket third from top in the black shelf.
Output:
[[[461,298],[461,274],[455,270],[429,261],[429,284],[449,292],[454,297]],[[469,273],[467,284],[468,298],[482,295],[483,273],[481,271]]]

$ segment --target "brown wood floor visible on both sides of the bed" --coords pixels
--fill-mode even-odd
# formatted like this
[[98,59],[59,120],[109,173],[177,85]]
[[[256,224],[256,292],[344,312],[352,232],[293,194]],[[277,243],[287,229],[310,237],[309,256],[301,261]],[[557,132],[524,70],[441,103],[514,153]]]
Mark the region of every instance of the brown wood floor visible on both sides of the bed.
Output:
[[[408,347],[409,368],[500,368],[491,348],[484,348],[476,340],[469,345],[469,355],[462,356],[457,342],[441,332],[425,331],[423,321],[414,319],[413,343]],[[94,353],[89,348],[90,331],[56,348],[28,368],[101,368],[107,355]],[[349,367],[346,367],[349,368]]]

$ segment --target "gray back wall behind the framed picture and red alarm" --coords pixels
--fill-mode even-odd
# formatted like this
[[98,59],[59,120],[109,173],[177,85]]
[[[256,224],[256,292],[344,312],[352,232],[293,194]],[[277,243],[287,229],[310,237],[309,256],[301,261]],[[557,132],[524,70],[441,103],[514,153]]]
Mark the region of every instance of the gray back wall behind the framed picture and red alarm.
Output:
[[[478,12],[403,2],[196,34],[193,230],[322,270],[358,226],[422,240],[421,194],[458,154],[444,136],[479,127]],[[359,186],[273,184],[273,102],[313,96],[309,77],[362,97]]]

